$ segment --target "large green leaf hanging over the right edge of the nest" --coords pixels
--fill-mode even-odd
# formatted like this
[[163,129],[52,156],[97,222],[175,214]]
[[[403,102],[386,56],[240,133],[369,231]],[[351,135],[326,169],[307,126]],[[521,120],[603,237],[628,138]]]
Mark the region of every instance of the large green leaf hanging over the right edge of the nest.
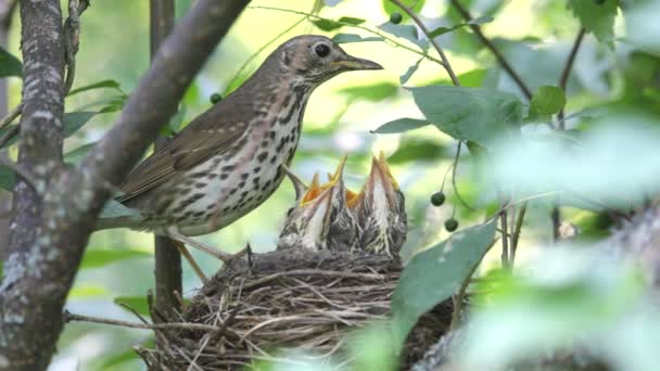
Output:
[[450,297],[488,251],[496,219],[464,229],[418,253],[406,265],[392,296],[392,331],[402,345],[419,317]]

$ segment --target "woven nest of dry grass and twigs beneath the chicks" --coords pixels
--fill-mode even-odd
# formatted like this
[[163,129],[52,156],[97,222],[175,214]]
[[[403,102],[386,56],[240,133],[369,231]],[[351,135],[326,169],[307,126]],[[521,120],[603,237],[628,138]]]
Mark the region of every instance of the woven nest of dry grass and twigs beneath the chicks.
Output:
[[[158,349],[138,348],[150,370],[241,370],[309,350],[346,364],[347,334],[388,318],[398,260],[346,252],[276,251],[221,269],[182,314],[190,329],[158,331]],[[407,368],[447,330],[445,302],[422,317],[406,342]],[[278,358],[279,357],[279,358]]]

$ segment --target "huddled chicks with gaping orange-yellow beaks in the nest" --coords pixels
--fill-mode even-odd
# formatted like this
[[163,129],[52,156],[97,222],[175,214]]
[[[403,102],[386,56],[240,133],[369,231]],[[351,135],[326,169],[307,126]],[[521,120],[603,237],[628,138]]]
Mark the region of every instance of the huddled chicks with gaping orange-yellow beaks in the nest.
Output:
[[344,157],[328,182],[309,186],[287,170],[296,190],[278,248],[365,250],[397,256],[407,232],[404,196],[381,153],[359,193],[345,188]]

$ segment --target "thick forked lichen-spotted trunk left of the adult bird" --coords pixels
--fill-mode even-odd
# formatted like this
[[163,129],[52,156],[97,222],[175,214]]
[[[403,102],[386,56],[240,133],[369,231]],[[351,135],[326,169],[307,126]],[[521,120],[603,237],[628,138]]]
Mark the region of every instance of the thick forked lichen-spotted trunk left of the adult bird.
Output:
[[[43,200],[20,181],[14,248],[0,285],[0,369],[43,370],[96,217],[167,123],[248,0],[198,0],[158,51],[120,117],[75,169],[61,167],[64,52],[59,0],[21,1],[25,68],[21,161]],[[34,86],[34,88],[33,88]],[[55,99],[56,97],[56,99]],[[46,140],[48,139],[48,140]],[[46,184],[43,184],[46,186]]]

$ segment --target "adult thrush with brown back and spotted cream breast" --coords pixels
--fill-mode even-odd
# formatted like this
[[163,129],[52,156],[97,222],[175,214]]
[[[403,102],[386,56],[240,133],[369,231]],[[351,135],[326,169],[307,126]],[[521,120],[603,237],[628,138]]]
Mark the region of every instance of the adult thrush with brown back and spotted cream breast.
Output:
[[382,69],[323,36],[277,48],[234,92],[140,163],[116,201],[138,216],[101,219],[98,229],[150,230],[206,250],[189,236],[226,227],[266,201],[283,178],[307,100],[347,71]]

